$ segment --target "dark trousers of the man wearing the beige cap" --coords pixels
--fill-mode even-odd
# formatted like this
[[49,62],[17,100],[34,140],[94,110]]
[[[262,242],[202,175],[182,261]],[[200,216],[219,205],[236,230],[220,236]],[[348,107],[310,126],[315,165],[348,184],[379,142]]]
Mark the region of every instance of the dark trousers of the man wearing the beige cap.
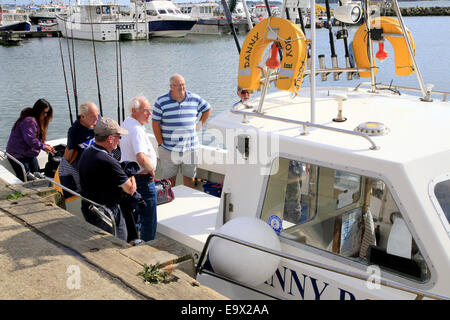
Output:
[[[84,219],[86,219],[87,222],[90,224],[93,224],[96,227],[99,227],[100,229],[113,234],[112,228],[104,222],[102,219],[100,219],[97,214],[89,210],[90,203],[86,201],[81,201],[81,212],[83,213]],[[116,234],[115,236],[123,241],[127,241],[127,226],[125,223],[124,216],[122,214],[122,210],[118,204],[114,206],[107,207],[109,210],[112,211],[114,216],[114,221],[116,223]],[[107,217],[109,217],[108,214],[106,214]]]

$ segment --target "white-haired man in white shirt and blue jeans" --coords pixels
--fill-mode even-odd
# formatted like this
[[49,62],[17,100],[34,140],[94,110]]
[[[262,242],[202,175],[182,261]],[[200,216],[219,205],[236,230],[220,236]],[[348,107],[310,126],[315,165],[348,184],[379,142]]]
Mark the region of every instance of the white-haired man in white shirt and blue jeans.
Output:
[[155,239],[156,233],[156,189],[155,169],[156,152],[145,132],[145,124],[150,122],[151,106],[145,97],[136,97],[128,105],[130,116],[122,123],[122,128],[129,134],[124,136],[120,148],[122,161],[136,161],[141,172],[135,176],[137,191],[141,194],[147,206],[139,207],[137,213],[142,221],[140,238],[144,241]]

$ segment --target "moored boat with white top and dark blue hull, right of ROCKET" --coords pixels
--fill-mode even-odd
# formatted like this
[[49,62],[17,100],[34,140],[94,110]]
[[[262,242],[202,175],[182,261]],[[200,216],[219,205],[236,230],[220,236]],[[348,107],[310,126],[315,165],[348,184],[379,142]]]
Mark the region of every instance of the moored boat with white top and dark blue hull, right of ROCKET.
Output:
[[130,15],[132,19],[143,19],[148,23],[151,37],[184,37],[197,22],[170,0],[131,0]]

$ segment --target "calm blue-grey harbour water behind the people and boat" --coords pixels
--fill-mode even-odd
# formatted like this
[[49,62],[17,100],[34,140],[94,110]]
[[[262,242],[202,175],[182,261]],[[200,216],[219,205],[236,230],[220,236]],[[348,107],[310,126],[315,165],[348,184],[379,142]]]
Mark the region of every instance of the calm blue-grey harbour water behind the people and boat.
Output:
[[[436,2],[437,6],[449,5],[450,1]],[[405,3],[402,3],[405,5]],[[418,66],[425,83],[433,83],[434,90],[450,91],[450,45],[448,32],[450,17],[405,17],[415,45]],[[334,27],[337,31],[340,27]],[[349,39],[353,38],[356,27],[350,28]],[[321,40],[317,54],[325,54],[327,65],[331,66],[328,30],[317,30]],[[242,45],[245,36],[238,37]],[[72,81],[67,55],[67,40],[42,38],[24,40],[16,47],[0,46],[0,148],[6,147],[11,126],[18,118],[20,110],[38,98],[46,98],[54,108],[54,118],[50,123],[48,139],[65,137],[70,126],[68,103],[62,70],[59,40],[63,48],[65,69],[71,97],[71,107],[75,113]],[[71,42],[69,42],[71,45]],[[117,119],[117,68],[116,44],[95,43],[98,76],[100,83],[103,115]],[[156,98],[169,90],[169,77],[174,73],[184,75],[187,89],[200,94],[214,108],[212,117],[231,107],[237,101],[237,67],[239,55],[232,36],[188,35],[181,39],[151,39],[149,41],[121,42],[123,95],[125,105],[136,95],[145,95],[153,104]],[[379,63],[377,82],[419,88],[417,78],[395,76],[394,52],[386,45],[389,58]],[[94,64],[93,45],[90,41],[74,41],[76,61],[76,83],[78,100],[94,101],[99,105],[99,95]],[[339,65],[345,66],[343,40],[336,41]],[[317,63],[318,65],[318,63]],[[368,78],[341,80],[319,86],[356,86],[367,82]],[[309,86],[305,78],[303,86]],[[126,107],[126,106],[125,106]],[[149,125],[148,130],[151,131]]]

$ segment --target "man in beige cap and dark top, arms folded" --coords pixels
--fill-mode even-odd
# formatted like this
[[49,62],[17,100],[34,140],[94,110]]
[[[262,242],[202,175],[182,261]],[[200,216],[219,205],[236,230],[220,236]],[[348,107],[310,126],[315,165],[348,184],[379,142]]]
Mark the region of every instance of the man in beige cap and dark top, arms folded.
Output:
[[[119,145],[121,134],[128,134],[113,119],[99,120],[94,128],[95,143],[80,158],[81,195],[106,206],[114,215],[116,236],[127,240],[127,227],[119,206],[122,191],[130,195],[136,191],[136,181],[123,171],[111,152]],[[90,203],[82,201],[81,211],[87,222],[112,233],[111,228],[89,210]]]

